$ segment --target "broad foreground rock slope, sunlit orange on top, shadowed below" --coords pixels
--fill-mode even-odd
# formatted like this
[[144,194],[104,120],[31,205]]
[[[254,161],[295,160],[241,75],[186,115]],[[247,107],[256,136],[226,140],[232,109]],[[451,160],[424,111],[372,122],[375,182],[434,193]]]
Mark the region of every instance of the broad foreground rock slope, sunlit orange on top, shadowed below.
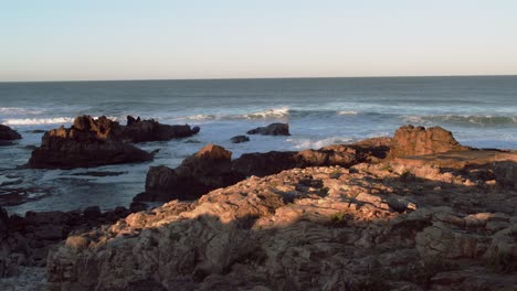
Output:
[[472,182],[392,162],[251,176],[68,237],[50,288],[514,290],[517,192]]

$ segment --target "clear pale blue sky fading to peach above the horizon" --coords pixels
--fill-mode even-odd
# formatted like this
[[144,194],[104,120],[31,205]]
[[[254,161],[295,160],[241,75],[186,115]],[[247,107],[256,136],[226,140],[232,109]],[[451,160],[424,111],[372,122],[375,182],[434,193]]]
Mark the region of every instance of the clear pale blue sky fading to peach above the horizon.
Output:
[[516,0],[0,0],[0,80],[517,74]]

